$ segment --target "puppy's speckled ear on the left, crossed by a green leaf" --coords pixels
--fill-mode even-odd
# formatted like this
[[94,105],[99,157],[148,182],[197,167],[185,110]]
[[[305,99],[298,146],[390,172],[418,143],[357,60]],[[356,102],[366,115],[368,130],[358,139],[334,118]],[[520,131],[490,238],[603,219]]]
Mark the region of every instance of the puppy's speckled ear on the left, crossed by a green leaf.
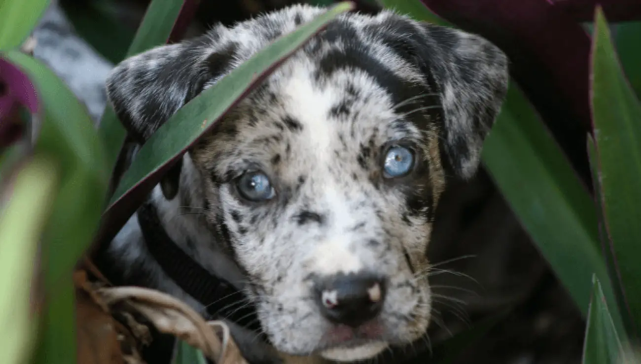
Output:
[[[132,56],[113,68],[106,81],[107,96],[137,143],[144,144],[206,84],[228,72],[237,46],[222,42],[227,30],[218,26],[194,40]],[[169,200],[178,193],[180,169],[178,162],[160,183]]]

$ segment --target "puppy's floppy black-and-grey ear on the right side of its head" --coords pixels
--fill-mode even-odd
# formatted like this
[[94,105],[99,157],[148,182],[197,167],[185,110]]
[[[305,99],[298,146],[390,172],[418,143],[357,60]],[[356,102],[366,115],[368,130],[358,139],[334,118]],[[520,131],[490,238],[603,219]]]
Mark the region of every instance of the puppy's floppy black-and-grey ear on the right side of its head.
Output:
[[485,38],[457,29],[397,15],[384,22],[390,23],[385,26],[390,45],[417,65],[438,92],[445,168],[472,177],[508,90],[506,55]]

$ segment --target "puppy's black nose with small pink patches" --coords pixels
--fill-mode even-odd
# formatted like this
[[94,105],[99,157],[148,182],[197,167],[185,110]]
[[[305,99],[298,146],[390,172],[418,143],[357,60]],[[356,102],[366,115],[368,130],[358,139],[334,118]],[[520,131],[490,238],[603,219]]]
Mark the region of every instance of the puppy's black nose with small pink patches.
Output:
[[383,280],[365,273],[339,274],[319,281],[315,288],[322,315],[352,327],[376,317],[385,299]]

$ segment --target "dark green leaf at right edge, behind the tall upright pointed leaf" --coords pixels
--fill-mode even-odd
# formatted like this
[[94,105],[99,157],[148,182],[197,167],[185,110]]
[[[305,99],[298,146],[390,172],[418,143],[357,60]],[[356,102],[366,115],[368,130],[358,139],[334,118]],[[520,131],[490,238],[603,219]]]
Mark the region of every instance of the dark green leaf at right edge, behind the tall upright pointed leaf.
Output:
[[615,29],[621,65],[637,97],[641,97],[641,22],[620,22],[615,24]]

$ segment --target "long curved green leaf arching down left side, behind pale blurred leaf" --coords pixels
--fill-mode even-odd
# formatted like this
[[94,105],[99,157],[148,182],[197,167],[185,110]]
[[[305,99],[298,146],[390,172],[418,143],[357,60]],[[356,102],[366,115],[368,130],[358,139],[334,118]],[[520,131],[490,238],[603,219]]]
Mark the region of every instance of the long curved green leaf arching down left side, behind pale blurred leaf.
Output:
[[60,166],[51,219],[42,245],[46,312],[37,363],[76,362],[72,268],[96,233],[108,174],[101,141],[86,109],[42,63],[17,51],[1,56],[25,72],[40,99],[41,125],[35,151]]

